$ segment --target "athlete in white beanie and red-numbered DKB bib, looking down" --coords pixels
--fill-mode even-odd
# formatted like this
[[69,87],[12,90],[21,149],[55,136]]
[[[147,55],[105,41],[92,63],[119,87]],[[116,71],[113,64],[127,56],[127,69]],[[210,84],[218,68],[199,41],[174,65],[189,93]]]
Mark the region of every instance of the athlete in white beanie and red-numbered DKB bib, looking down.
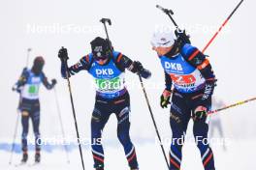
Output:
[[[211,107],[211,95],[215,75],[206,55],[182,42],[183,33],[155,32],[151,40],[153,50],[165,71],[166,88],[161,96],[161,107],[171,103],[170,124],[173,140],[170,148],[170,170],[180,169],[182,144],[188,122],[193,118],[193,133],[201,152],[206,170],[214,170],[213,153],[208,145],[207,112]],[[174,88],[174,90],[172,90]],[[172,102],[170,102],[173,94]],[[182,142],[179,142],[181,139]]]

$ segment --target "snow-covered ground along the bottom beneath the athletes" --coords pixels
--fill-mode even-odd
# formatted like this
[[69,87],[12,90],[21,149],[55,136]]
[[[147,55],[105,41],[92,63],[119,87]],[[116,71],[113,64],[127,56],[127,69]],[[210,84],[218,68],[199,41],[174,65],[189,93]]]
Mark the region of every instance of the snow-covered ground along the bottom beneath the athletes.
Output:
[[[215,154],[215,164],[217,170],[227,169],[253,169],[255,163],[251,161],[252,157],[255,156],[255,140],[241,140],[231,141],[227,146],[227,150],[223,151],[221,146],[213,146],[212,149]],[[164,157],[162,156],[159,146],[155,144],[145,143],[136,144],[137,155],[142,170],[165,170],[166,164]],[[166,148],[167,149],[167,148]],[[200,160],[200,154],[195,145],[186,144],[183,149],[183,170],[203,170],[203,165]],[[33,152],[30,152],[31,159],[28,164],[33,163]],[[128,169],[126,159],[123,154],[123,150],[120,145],[114,147],[105,147],[106,154],[106,169]],[[14,156],[13,165],[9,165],[9,152],[0,151],[0,167],[4,170],[13,169],[35,169],[35,170],[79,170],[81,169],[80,154],[78,149],[74,149],[69,152],[70,163],[67,163],[67,157],[64,151],[53,150],[51,153],[43,152],[42,163],[30,167],[29,165],[23,165],[16,167],[20,155]],[[83,150],[85,169],[92,170],[92,156],[88,149]]]

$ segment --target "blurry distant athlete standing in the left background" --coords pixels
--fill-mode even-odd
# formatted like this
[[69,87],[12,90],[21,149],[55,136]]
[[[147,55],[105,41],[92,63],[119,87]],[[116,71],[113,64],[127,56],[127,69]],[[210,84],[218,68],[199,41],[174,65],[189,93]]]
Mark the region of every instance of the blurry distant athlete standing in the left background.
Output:
[[41,139],[40,139],[40,102],[39,102],[39,89],[43,83],[45,87],[50,90],[55,84],[56,80],[52,79],[51,83],[48,82],[48,78],[43,72],[45,60],[43,57],[38,56],[34,60],[34,65],[31,70],[27,68],[23,69],[16,85],[13,90],[18,92],[20,95],[18,109],[21,112],[21,123],[22,123],[22,151],[23,156],[21,159],[22,163],[25,163],[28,159],[27,154],[27,135],[29,128],[29,118],[32,120],[33,130],[35,134],[35,146],[36,154],[35,161],[40,162],[41,155]]

